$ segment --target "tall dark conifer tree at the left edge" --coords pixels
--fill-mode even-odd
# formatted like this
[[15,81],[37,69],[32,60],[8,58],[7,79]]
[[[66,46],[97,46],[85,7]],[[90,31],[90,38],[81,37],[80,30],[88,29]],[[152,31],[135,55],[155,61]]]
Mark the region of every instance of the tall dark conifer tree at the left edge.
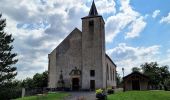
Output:
[[0,85],[11,81],[16,75],[16,67],[13,65],[17,63],[17,59],[14,59],[17,54],[12,53],[14,41],[11,34],[4,32],[6,26],[6,20],[2,19],[0,14]]

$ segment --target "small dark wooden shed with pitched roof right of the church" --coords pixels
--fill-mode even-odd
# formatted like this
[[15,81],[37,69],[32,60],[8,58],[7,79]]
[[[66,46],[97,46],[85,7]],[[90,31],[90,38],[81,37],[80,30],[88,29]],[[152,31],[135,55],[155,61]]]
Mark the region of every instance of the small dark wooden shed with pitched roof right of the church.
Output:
[[148,90],[149,78],[140,72],[132,72],[123,78],[124,90]]

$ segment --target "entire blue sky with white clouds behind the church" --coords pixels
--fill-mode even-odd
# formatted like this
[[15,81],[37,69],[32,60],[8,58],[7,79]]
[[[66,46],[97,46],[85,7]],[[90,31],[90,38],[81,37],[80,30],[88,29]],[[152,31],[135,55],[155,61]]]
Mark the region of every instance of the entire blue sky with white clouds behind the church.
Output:
[[[15,38],[17,79],[48,70],[48,54],[88,15],[92,0],[1,0]],[[170,66],[170,0],[95,0],[105,21],[106,53],[122,75],[145,62]]]

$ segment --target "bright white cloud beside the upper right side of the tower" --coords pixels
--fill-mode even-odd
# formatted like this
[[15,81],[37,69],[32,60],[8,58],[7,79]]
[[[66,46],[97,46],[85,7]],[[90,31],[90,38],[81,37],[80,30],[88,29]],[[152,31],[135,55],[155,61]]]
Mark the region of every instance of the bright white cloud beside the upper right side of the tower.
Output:
[[106,42],[112,42],[128,26],[130,30],[126,32],[126,37],[137,37],[146,26],[144,17],[132,9],[130,0],[121,0],[120,4],[119,12],[106,20]]

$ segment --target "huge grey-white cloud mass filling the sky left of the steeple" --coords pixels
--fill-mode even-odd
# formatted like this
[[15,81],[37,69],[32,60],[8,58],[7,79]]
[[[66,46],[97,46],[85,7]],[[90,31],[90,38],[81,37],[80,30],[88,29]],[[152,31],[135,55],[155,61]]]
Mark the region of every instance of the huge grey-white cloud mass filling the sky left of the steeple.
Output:
[[84,2],[1,0],[0,9],[7,21],[6,32],[15,38],[18,79],[47,70],[47,55],[74,27],[81,28],[81,17],[89,10]]

